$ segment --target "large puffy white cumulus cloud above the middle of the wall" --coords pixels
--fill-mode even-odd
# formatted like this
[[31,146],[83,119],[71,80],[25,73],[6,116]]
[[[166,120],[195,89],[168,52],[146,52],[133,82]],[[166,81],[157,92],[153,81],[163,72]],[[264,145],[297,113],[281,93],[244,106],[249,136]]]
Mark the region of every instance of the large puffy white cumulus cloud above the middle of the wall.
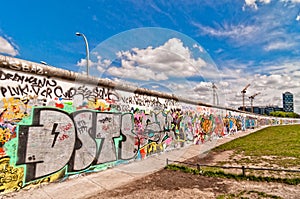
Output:
[[193,58],[180,39],[172,38],[156,48],[133,48],[117,53],[121,66],[111,66],[111,75],[136,80],[167,80],[170,77],[192,77],[208,66],[201,58]]

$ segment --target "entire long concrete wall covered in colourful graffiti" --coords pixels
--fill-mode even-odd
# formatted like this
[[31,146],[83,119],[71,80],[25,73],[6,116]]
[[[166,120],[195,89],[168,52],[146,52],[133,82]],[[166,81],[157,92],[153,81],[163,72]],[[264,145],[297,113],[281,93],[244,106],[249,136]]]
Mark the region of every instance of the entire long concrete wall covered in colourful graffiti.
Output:
[[0,191],[295,122],[0,56]]

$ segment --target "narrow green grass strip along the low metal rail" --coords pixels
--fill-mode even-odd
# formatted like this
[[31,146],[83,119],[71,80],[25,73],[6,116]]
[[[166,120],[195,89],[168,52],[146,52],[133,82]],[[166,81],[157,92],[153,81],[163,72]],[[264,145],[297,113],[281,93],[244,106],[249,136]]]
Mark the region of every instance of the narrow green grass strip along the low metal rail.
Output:
[[253,175],[244,176],[242,174],[224,173],[224,171],[198,170],[184,165],[169,164],[165,167],[165,169],[173,170],[173,171],[183,171],[185,173],[191,173],[194,175],[200,174],[202,176],[207,176],[207,177],[219,177],[219,178],[227,178],[227,179],[235,179],[235,180],[251,180],[256,182],[278,182],[278,183],[284,183],[289,185],[300,184],[300,178],[275,178],[275,177],[253,176]]

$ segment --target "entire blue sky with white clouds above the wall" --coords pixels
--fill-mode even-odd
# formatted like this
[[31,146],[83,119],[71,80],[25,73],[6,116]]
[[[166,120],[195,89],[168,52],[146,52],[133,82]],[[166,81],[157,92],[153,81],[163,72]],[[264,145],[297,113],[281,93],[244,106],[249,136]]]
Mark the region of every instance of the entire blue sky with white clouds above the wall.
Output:
[[300,0],[3,1],[0,53],[213,103],[300,113]]

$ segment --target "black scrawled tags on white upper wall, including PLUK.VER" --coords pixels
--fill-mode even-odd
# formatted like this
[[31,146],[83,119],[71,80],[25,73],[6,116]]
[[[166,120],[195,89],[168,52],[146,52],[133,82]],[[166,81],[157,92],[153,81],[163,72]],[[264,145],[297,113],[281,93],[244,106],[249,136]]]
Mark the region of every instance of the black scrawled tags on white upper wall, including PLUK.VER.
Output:
[[4,72],[0,70],[0,80],[10,81],[13,84],[3,84],[0,87],[0,96],[39,96],[45,99],[60,98],[73,100],[76,96],[82,100],[95,101],[96,99],[108,99],[119,101],[119,96],[109,88],[88,88],[85,85],[63,88],[57,80],[49,77],[20,74],[17,72]]

